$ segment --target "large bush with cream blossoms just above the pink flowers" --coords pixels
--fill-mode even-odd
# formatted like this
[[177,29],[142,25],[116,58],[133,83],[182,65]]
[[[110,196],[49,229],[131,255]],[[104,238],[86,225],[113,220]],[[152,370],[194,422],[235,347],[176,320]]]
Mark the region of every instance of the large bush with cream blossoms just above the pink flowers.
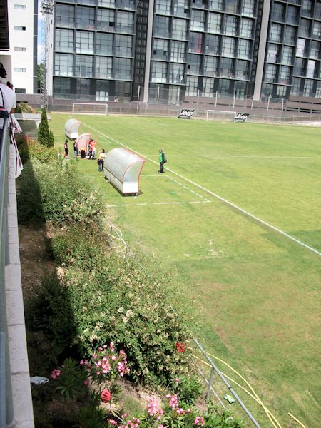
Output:
[[175,347],[188,337],[185,320],[174,312],[175,292],[165,280],[112,255],[92,272],[70,269],[63,283],[83,353],[115,342],[128,355],[131,379],[147,384],[168,384],[188,370],[186,352]]

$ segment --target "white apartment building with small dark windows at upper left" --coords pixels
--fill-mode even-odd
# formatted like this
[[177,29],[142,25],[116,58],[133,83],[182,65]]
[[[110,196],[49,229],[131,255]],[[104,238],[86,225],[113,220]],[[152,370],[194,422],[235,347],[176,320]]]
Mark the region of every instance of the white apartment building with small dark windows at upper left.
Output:
[[0,52],[0,61],[16,93],[37,91],[37,0],[7,2],[9,51]]

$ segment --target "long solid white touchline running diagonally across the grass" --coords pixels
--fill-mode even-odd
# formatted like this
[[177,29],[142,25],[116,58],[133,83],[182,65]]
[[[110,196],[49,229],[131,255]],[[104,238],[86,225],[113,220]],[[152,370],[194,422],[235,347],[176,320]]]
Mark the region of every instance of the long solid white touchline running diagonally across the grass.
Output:
[[[84,125],[84,126],[87,126],[88,128],[91,128],[90,126],[86,125],[86,123],[83,123],[83,125]],[[146,158],[148,161],[150,161],[150,162],[152,162],[152,163],[156,163],[156,165],[158,165],[158,162],[153,161],[153,159],[148,158],[147,156],[143,156],[143,155],[142,155],[141,153],[139,153],[138,151],[133,150],[133,148],[130,148],[130,147],[126,146],[126,144],[123,144],[123,143],[121,143],[120,141],[115,140],[115,138],[112,138],[112,137],[110,137],[110,136],[107,136],[106,134],[104,134],[104,133],[102,133],[102,132],[100,132],[100,131],[97,131],[97,130],[96,130],[96,129],[94,129],[94,128],[91,128],[91,129],[93,129],[93,131],[96,131],[96,132],[100,133],[102,136],[104,136],[104,137],[106,137],[106,138],[109,138],[111,141],[114,141],[115,143],[120,144],[121,146],[128,148],[128,150],[131,150],[131,151],[133,151],[134,153],[137,153],[139,156],[142,156],[143,158]],[[299,244],[299,245],[302,245],[302,247],[307,248],[307,250],[310,250],[310,251],[312,251],[313,253],[315,253],[315,254],[317,254],[317,255],[321,255],[321,252],[320,252],[320,251],[316,250],[315,248],[311,247],[310,245],[307,245],[307,244],[303,243],[301,240],[299,240],[299,239],[295,238],[295,237],[294,237],[294,236],[292,236],[292,235],[289,235],[288,233],[284,232],[283,230],[281,230],[281,229],[279,229],[279,228],[276,228],[275,226],[271,225],[270,223],[267,223],[265,220],[262,220],[262,219],[258,218],[256,215],[253,215],[253,214],[249,213],[248,211],[243,210],[243,208],[240,208],[238,205],[235,205],[235,203],[230,202],[229,200],[227,200],[227,199],[225,199],[225,198],[222,198],[222,196],[217,195],[216,193],[212,192],[211,190],[209,190],[209,189],[207,189],[207,188],[203,187],[203,185],[200,185],[200,184],[198,184],[198,183],[195,183],[194,181],[189,180],[188,178],[185,178],[183,175],[180,175],[179,173],[176,173],[175,171],[170,170],[169,168],[167,168],[167,170],[168,170],[170,173],[172,173],[172,174],[174,174],[174,175],[177,175],[178,177],[180,177],[180,178],[182,178],[183,180],[187,181],[188,183],[195,185],[195,187],[197,187],[197,188],[199,188],[199,189],[203,190],[204,192],[208,193],[209,195],[212,195],[212,196],[214,196],[215,198],[218,198],[218,199],[219,199],[219,200],[221,200],[222,202],[226,203],[227,205],[230,205],[231,207],[235,208],[235,210],[238,210],[238,211],[240,211],[241,213],[243,213],[243,214],[245,214],[245,215],[248,215],[250,218],[253,218],[254,220],[258,221],[258,223],[261,223],[261,224],[263,224],[263,225],[267,226],[267,228],[270,228],[270,229],[272,229],[272,230],[275,230],[275,232],[278,232],[278,233],[280,233],[281,235],[285,236],[286,238],[289,238],[290,240],[294,241],[295,243],[297,243],[297,244]]]

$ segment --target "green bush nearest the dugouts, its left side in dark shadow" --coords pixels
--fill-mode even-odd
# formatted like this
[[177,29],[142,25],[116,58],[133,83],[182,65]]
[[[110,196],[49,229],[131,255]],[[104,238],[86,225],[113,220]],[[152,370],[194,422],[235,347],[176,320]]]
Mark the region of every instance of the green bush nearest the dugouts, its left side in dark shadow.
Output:
[[[30,188],[27,181],[34,183],[34,186]],[[101,218],[102,203],[98,193],[80,178],[74,162],[57,159],[44,164],[33,159],[32,165],[24,168],[17,190],[21,223],[44,218],[59,225],[78,222],[91,225]],[[38,193],[41,196],[40,218],[39,210],[33,210],[35,191],[37,196]],[[27,212],[22,209],[23,206],[29,206]]]

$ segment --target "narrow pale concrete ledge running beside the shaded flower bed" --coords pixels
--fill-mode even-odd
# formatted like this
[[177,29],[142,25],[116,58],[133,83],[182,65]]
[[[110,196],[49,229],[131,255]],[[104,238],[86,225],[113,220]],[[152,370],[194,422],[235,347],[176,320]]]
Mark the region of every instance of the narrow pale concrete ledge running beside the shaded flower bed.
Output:
[[21,289],[14,146],[12,145],[10,146],[9,165],[9,265],[5,268],[5,285],[11,387],[14,401],[14,427],[34,428],[34,412],[26,347],[26,327],[24,324],[24,300]]

